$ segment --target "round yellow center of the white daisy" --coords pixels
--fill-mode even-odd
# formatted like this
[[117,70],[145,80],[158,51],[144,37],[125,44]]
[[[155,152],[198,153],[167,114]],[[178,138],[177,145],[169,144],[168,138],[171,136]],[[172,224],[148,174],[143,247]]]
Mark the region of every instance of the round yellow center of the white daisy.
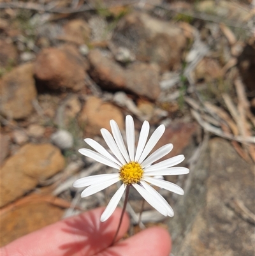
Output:
[[120,181],[124,184],[130,185],[138,183],[143,176],[143,169],[139,163],[129,162],[120,168]]

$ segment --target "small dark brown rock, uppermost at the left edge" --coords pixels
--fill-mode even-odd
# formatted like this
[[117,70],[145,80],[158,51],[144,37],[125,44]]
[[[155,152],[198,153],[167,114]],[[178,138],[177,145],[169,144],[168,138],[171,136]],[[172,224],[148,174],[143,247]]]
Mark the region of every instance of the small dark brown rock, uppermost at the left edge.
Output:
[[0,40],[0,65],[1,68],[11,68],[17,62],[17,50],[10,40]]

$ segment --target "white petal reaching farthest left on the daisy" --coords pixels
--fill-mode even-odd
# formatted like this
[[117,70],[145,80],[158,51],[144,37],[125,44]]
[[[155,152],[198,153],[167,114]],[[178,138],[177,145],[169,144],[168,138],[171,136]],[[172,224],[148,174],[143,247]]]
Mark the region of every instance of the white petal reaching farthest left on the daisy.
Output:
[[80,179],[77,179],[77,181],[73,183],[73,186],[75,188],[83,188],[84,186],[90,186],[92,184],[108,181],[113,177],[119,177],[119,174],[99,174],[94,176],[82,177]]

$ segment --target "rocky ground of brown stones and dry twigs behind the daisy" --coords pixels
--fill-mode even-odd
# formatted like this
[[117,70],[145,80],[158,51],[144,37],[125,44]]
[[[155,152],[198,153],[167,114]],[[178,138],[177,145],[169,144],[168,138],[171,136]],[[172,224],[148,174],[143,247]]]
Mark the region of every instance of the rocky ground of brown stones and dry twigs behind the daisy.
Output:
[[[252,5],[253,4],[253,5]],[[78,177],[111,172],[82,157],[115,119],[165,124],[190,174],[162,195],[163,218],[131,191],[129,235],[170,230],[175,256],[254,255],[254,1],[1,1],[1,243],[105,206]]]

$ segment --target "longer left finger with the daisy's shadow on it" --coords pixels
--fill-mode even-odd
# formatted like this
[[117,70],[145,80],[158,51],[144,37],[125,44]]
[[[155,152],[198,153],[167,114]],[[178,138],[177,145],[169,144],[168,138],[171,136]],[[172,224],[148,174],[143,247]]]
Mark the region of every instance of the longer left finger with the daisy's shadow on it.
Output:
[[[122,211],[117,208],[106,222],[100,222],[104,209],[93,209],[20,237],[4,246],[1,255],[94,255],[111,245]],[[125,234],[128,227],[129,218],[125,214],[117,239]]]

